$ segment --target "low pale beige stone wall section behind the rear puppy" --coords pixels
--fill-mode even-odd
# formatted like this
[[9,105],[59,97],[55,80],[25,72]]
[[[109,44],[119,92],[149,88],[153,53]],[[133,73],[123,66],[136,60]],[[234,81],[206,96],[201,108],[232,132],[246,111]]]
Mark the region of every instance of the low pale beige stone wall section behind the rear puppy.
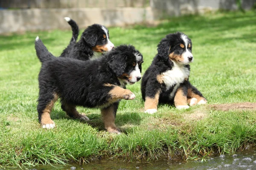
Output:
[[0,34],[19,31],[70,29],[64,17],[75,20],[80,28],[99,23],[105,26],[153,21],[153,11],[147,8],[66,8],[0,10]]

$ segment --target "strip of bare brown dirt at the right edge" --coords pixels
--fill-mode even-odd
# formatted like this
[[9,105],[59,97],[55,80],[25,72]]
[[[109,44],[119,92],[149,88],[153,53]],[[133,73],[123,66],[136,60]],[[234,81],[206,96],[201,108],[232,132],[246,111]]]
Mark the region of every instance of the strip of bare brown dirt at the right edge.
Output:
[[250,103],[250,102],[228,103],[228,104],[209,105],[209,106],[218,111],[256,109],[256,103]]

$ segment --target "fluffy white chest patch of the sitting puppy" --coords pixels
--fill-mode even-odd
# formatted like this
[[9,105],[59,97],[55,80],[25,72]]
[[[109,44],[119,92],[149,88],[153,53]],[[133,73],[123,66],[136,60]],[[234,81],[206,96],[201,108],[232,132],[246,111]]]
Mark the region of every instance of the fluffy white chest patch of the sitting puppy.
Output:
[[[177,87],[184,81],[184,79],[189,78],[189,69],[184,67],[184,65],[177,65],[174,62],[174,67],[172,70],[163,72],[163,82],[166,85],[166,90],[169,90],[173,85]],[[177,87],[175,86],[176,90]],[[176,91],[175,90],[175,91]]]

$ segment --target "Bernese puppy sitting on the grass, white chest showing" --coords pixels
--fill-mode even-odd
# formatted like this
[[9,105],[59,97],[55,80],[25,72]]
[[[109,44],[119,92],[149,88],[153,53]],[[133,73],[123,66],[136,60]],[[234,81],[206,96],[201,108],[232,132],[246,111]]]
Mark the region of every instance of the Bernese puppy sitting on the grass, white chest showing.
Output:
[[158,54],[142,78],[141,92],[145,113],[157,112],[158,103],[176,108],[206,104],[207,100],[189,82],[189,63],[193,62],[192,42],[185,34],[166,35],[157,46]]

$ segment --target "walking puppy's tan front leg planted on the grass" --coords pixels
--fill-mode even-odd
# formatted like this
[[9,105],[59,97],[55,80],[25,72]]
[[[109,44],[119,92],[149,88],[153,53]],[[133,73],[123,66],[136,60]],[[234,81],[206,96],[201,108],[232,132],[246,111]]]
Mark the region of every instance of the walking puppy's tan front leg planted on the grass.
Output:
[[117,133],[120,134],[120,129],[116,127],[115,125],[115,115],[114,115],[114,107],[113,105],[102,109],[102,117],[103,122],[105,125],[105,129],[108,130],[110,133]]

